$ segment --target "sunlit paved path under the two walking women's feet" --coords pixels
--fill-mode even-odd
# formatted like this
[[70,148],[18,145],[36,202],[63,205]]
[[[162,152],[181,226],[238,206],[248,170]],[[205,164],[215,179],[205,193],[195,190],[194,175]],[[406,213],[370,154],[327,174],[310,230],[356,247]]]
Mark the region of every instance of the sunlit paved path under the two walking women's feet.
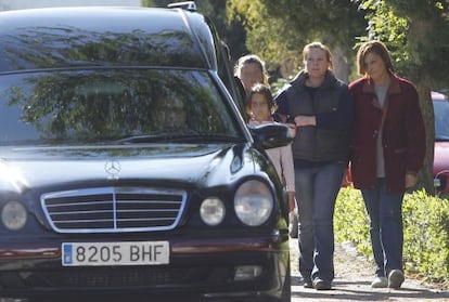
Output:
[[374,267],[367,259],[357,255],[348,245],[335,247],[335,274],[333,289],[317,291],[299,285],[297,265],[297,239],[291,239],[292,302],[299,301],[431,301],[449,302],[449,291],[438,290],[406,276],[398,290],[371,288]]

